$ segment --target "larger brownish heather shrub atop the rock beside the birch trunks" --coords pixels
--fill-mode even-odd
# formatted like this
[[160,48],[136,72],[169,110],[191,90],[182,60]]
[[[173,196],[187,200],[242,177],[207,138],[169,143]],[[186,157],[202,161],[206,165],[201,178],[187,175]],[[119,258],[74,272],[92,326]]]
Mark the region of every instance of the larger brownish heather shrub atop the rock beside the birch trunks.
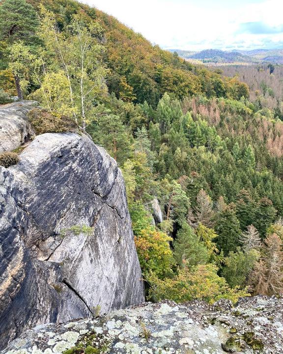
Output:
[[41,108],[34,108],[28,112],[28,121],[36,134],[64,133],[76,128],[72,119],[50,113]]

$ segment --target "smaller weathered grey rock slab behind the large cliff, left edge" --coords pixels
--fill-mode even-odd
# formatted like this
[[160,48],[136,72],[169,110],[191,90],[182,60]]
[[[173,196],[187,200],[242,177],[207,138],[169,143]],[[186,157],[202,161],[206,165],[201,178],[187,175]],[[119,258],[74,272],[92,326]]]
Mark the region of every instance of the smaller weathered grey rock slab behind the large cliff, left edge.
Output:
[[18,148],[34,136],[26,115],[35,105],[36,101],[0,105],[0,152]]

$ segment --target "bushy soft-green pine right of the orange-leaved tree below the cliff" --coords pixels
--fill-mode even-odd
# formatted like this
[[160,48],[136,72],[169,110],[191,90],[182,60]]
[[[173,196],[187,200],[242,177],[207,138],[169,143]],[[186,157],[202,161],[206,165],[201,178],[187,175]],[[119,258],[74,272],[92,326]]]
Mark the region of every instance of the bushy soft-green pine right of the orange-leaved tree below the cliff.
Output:
[[173,254],[179,266],[205,264],[209,259],[209,252],[204,243],[199,240],[187,223],[183,223],[177,232],[173,247]]

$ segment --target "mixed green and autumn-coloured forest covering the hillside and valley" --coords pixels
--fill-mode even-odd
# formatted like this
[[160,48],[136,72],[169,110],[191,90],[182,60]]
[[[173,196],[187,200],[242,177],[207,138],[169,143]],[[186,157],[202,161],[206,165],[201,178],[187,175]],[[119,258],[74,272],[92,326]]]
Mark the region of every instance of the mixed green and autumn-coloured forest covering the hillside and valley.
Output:
[[283,292],[283,122],[246,83],[72,0],[4,0],[0,53],[1,103],[37,100],[38,134],[86,131],[117,161],[149,299]]

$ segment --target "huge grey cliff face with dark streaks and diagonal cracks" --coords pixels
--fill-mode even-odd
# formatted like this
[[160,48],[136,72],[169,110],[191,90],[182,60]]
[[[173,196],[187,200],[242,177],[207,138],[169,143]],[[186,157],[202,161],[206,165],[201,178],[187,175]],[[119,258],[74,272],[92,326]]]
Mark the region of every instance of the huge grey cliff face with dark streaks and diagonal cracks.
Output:
[[75,133],[37,136],[19,157],[0,167],[0,347],[144,300],[115,161]]

